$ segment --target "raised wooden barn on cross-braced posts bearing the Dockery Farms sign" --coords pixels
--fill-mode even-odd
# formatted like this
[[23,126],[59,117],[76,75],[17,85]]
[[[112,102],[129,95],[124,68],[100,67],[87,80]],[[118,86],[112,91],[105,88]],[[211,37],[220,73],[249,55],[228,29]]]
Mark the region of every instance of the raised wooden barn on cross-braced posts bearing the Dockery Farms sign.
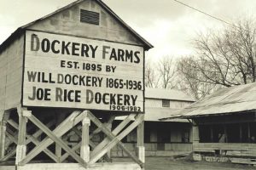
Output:
[[[142,169],[150,48],[101,0],[18,28],[0,46],[0,169]],[[135,129],[136,154],[121,142]],[[133,161],[111,162],[116,145]]]

